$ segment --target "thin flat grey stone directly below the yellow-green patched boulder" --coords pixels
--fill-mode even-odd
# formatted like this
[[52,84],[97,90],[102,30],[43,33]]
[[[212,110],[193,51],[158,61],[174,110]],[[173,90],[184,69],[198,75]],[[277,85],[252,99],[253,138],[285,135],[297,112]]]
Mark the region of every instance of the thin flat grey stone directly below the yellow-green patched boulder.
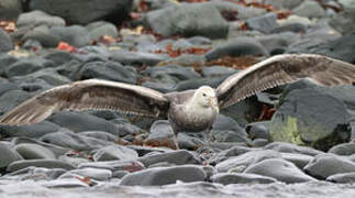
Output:
[[298,153],[298,154],[304,154],[310,156],[315,156],[319,154],[323,154],[324,152],[321,152],[319,150],[314,150],[312,147],[308,146],[300,146],[287,142],[273,142],[264,147],[265,150],[274,150],[281,153]]

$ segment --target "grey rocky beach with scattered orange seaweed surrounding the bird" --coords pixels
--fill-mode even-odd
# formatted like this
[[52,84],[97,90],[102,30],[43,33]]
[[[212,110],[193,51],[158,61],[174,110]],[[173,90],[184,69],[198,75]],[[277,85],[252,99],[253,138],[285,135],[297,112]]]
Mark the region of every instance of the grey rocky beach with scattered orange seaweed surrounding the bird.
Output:
[[[166,94],[280,54],[354,66],[354,20],[355,0],[1,0],[0,116],[92,78]],[[0,197],[355,196],[354,84],[248,97],[220,111],[210,147],[185,131],[176,150],[167,120],[95,110],[0,138]]]

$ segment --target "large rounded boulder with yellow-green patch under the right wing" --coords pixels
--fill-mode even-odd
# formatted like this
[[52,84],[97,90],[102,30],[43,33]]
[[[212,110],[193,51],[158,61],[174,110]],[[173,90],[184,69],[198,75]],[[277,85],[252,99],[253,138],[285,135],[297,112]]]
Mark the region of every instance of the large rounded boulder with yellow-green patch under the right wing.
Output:
[[314,89],[297,89],[274,114],[270,139],[326,151],[350,140],[348,118],[341,100]]

